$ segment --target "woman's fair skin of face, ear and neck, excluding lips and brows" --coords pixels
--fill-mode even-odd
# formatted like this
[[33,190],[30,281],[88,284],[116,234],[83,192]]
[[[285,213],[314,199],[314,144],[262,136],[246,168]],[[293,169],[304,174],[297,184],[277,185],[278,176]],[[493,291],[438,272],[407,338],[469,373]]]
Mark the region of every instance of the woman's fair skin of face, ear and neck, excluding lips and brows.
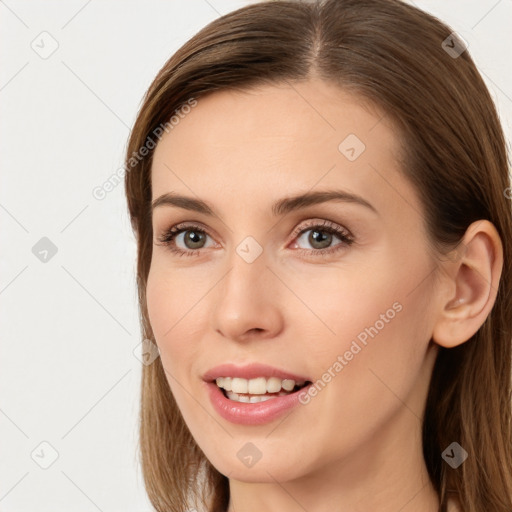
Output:
[[[348,134],[366,146],[354,161],[338,150]],[[439,345],[464,343],[489,314],[502,249],[481,221],[458,258],[435,260],[397,153],[382,113],[319,80],[199,98],[155,149],[152,199],[173,192],[215,212],[155,208],[147,302],[184,420],[229,478],[229,512],[438,511],[421,450],[430,376]],[[285,196],[332,189],[376,212],[329,201],[272,214]],[[311,227],[326,220],[353,243],[315,245]],[[158,241],[180,222],[204,229],[193,256]],[[236,252],[248,236],[263,250],[252,263]],[[250,426],[212,407],[201,380],[211,367],[261,362],[320,379],[396,302],[401,311],[307,405]],[[262,454],[251,467],[237,457],[248,442]]]

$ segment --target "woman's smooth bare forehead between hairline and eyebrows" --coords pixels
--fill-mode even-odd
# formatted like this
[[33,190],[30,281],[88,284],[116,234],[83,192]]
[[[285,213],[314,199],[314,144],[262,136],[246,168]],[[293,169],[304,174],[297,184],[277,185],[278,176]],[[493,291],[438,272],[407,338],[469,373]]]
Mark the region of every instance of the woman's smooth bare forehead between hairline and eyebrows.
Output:
[[381,208],[403,207],[404,196],[415,198],[397,172],[399,150],[383,112],[322,81],[218,91],[157,144],[153,200],[177,191],[262,209],[286,193],[344,188]]

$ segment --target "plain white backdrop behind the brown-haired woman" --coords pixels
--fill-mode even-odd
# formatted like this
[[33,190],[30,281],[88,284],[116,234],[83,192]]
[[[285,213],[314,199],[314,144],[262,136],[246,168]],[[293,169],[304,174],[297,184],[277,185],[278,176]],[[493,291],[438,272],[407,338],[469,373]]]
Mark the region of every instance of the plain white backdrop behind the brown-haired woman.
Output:
[[[0,1],[0,511],[147,512],[135,242],[121,183],[146,88],[248,1]],[[512,2],[417,1],[468,43],[510,140]]]

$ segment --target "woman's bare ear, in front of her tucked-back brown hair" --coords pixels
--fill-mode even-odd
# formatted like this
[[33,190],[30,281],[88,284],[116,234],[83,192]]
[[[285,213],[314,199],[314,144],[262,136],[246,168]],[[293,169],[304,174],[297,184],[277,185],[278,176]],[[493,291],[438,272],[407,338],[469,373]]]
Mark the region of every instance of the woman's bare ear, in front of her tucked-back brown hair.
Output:
[[434,343],[452,348],[469,340],[489,315],[503,269],[503,245],[488,220],[473,222],[449,261],[444,297],[432,333]]

